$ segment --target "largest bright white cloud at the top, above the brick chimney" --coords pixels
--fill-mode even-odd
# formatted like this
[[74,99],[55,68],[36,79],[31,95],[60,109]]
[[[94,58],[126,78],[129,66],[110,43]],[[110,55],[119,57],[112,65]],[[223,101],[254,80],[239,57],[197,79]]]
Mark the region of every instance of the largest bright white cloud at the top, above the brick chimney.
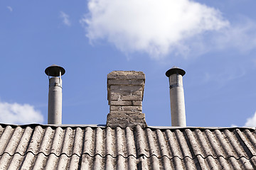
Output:
[[228,27],[220,11],[189,0],[89,0],[81,20],[91,43],[107,40],[125,53],[186,55],[186,42]]

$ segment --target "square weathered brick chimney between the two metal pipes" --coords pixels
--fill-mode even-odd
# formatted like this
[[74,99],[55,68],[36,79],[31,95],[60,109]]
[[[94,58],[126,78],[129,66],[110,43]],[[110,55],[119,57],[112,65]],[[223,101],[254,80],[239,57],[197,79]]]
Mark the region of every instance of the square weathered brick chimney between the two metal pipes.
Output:
[[145,114],[142,113],[144,84],[143,72],[114,71],[107,74],[107,100],[110,105],[107,126],[146,127]]

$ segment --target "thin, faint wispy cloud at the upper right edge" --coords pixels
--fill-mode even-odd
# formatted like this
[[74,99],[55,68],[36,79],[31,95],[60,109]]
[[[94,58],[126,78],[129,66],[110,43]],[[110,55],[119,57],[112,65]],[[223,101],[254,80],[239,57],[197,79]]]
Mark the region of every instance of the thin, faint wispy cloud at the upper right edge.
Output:
[[201,43],[199,46],[205,50],[204,52],[230,49],[247,52],[256,47],[256,23],[243,16],[242,19],[230,23],[218,32],[203,35],[201,39],[195,38],[193,41]]

